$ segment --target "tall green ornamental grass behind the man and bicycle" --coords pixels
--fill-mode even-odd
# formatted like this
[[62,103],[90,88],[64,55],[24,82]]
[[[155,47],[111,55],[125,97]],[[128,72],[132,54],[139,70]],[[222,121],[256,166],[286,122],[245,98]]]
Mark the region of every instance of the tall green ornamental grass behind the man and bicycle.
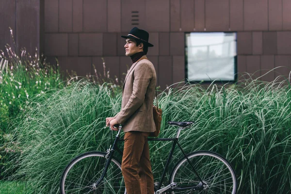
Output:
[[[109,147],[115,134],[104,128],[105,118],[121,106],[121,94],[110,88],[106,83],[73,83],[31,104],[12,131],[21,147],[19,170],[13,178],[27,182],[32,190],[26,193],[57,193],[62,171],[72,158]],[[181,146],[186,153],[203,149],[225,156],[236,170],[239,194],[291,191],[288,82],[185,85],[162,92],[159,105],[163,110],[160,137],[174,137],[177,132],[167,121],[195,121],[181,132]],[[155,180],[162,174],[170,148],[170,143],[150,143]],[[171,166],[180,157],[177,149]]]

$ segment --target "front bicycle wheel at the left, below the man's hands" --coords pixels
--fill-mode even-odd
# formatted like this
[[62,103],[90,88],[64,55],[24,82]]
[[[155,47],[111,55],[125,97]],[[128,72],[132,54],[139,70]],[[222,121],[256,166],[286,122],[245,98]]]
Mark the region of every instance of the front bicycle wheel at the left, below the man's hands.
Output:
[[115,159],[96,185],[107,162],[105,156],[104,152],[86,152],[69,162],[61,177],[61,194],[126,194],[121,165]]

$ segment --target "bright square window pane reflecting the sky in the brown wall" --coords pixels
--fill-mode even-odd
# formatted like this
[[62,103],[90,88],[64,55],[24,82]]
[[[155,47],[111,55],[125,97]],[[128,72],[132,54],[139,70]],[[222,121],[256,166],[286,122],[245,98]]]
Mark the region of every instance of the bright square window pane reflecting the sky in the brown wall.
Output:
[[189,81],[234,81],[235,32],[186,33],[186,60]]

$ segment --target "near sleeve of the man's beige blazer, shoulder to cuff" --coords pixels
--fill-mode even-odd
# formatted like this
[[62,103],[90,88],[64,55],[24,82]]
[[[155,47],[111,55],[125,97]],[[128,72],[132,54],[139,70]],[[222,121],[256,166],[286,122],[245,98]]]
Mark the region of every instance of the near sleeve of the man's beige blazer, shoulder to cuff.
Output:
[[128,103],[123,109],[121,109],[115,118],[119,124],[123,124],[127,121],[129,117],[143,104],[147,87],[153,77],[153,72],[149,65],[150,64],[147,63],[141,63],[134,69],[132,94]]

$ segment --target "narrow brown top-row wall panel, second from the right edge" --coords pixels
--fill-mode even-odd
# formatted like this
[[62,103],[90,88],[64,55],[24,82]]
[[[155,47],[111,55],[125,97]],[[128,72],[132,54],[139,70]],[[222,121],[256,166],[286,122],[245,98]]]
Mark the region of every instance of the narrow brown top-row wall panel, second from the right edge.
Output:
[[282,30],[282,0],[269,0],[269,30]]

